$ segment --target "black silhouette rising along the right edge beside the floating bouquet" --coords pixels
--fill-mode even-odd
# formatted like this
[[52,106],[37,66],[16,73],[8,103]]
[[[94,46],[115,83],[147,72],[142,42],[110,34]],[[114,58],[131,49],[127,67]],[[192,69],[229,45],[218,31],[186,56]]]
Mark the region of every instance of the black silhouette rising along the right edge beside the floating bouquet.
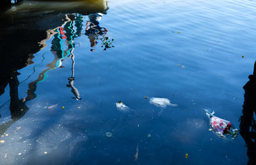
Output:
[[256,114],[256,61],[253,75],[249,75],[249,81],[243,86],[244,104],[243,114],[240,118],[240,134],[247,146],[248,165],[256,164],[256,122],[253,113]]

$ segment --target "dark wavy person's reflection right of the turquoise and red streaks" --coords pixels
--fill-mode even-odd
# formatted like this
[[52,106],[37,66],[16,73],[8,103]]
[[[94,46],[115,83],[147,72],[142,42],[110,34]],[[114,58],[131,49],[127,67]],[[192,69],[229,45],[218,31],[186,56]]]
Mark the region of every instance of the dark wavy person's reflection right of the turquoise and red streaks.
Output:
[[[91,47],[95,47],[99,36],[105,36],[108,33],[108,29],[101,28],[99,21],[101,20],[102,13],[95,13],[88,15],[89,20],[86,23],[85,35],[88,36]],[[90,49],[95,51],[95,49]]]

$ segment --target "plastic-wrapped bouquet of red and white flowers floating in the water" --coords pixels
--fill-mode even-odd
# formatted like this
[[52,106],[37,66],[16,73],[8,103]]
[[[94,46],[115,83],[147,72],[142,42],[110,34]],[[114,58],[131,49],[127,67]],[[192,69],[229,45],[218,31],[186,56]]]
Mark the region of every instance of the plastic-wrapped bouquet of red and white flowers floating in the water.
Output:
[[230,135],[232,139],[237,138],[239,130],[237,130],[231,122],[214,116],[214,111],[212,111],[212,113],[210,113],[208,109],[204,109],[204,111],[205,114],[210,118],[212,130],[216,132],[218,136],[226,138],[225,135]]

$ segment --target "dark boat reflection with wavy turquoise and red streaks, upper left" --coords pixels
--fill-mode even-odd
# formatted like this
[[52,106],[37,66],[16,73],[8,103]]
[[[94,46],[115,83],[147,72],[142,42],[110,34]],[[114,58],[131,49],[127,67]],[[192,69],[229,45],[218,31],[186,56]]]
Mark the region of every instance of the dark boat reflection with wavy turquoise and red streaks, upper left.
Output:
[[[33,5],[29,3],[33,3]],[[53,10],[54,12],[52,12]],[[4,38],[4,40],[0,40],[0,49],[3,54],[9,55],[0,64],[0,96],[3,95],[6,86],[9,85],[10,100],[8,101],[10,101],[11,112],[11,120],[0,125],[0,135],[4,134],[8,127],[28,112],[29,107],[26,106],[26,102],[36,98],[38,83],[47,79],[47,74],[51,70],[63,68],[62,62],[69,58],[72,60],[72,75],[67,78],[67,87],[71,88],[71,92],[74,95],[73,98],[81,99],[80,93],[74,85],[74,49],[80,43],[76,43],[74,39],[83,35],[83,22],[84,18],[87,17],[85,15],[93,14],[93,12],[106,13],[106,10],[108,10],[108,7],[105,0],[65,3],[24,1],[24,3],[15,6],[15,8],[0,16],[0,20],[3,22],[0,30],[4,32],[0,34],[0,38]],[[47,12],[42,13],[43,11]],[[54,14],[56,12],[58,12],[58,15]],[[44,14],[43,17],[42,14]],[[54,59],[46,65],[47,68],[40,72],[35,81],[31,81],[28,84],[27,96],[20,99],[18,70],[33,64],[34,54],[44,49],[47,46],[46,41],[51,40],[51,38],[51,52]],[[19,47],[13,49],[13,41],[19,43]],[[33,73],[35,73],[35,70]],[[25,81],[29,81],[29,77]]]

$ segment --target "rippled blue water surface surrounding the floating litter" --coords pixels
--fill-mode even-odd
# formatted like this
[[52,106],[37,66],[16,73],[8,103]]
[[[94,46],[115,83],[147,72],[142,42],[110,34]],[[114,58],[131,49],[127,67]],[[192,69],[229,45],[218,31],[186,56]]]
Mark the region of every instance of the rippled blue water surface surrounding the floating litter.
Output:
[[[0,164],[246,164],[244,139],[209,131],[203,109],[239,129],[255,62],[255,1],[108,7],[102,15],[61,13],[55,35],[17,70],[26,113],[11,119],[8,84],[0,97]],[[157,107],[145,96],[179,106]],[[118,111],[119,100],[133,111]]]

